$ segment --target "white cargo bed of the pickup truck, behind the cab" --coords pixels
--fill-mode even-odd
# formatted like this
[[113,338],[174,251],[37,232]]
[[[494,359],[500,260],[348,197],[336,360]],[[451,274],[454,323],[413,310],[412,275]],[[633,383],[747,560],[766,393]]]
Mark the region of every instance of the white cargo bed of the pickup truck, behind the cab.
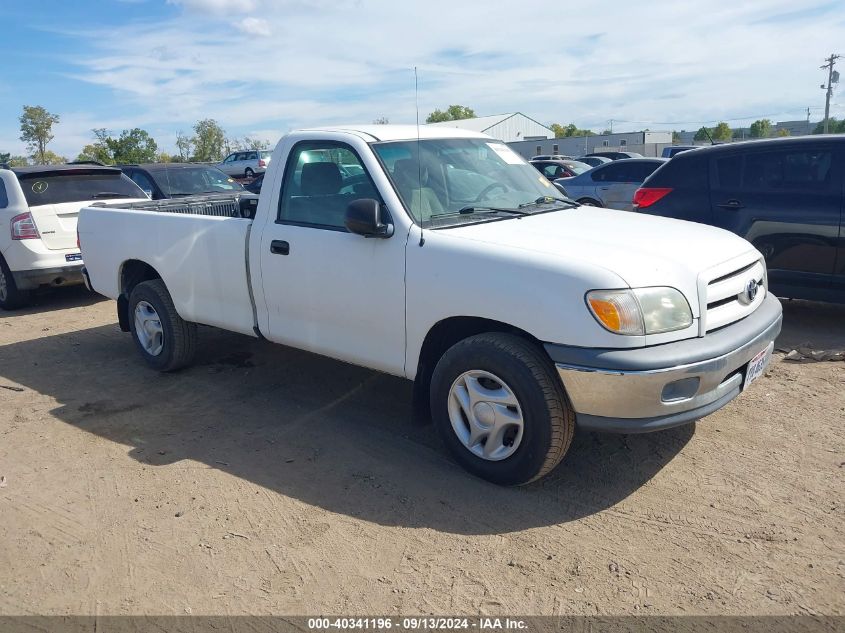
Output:
[[183,319],[254,336],[247,248],[257,198],[191,196],[82,209],[79,239],[91,285],[117,299],[127,264],[145,262]]

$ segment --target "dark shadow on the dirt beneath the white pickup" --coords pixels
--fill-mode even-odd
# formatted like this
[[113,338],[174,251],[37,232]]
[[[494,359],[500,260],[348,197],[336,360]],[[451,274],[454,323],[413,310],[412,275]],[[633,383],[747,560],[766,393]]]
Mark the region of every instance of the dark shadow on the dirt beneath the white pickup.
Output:
[[407,381],[213,328],[201,328],[200,346],[196,366],[164,375],[116,325],[43,337],[0,347],[0,385],[55,398],[56,419],[126,445],[145,465],[193,460],[331,512],[457,534],[609,508],[694,434],[693,425],[577,433],[549,477],[499,488],[454,464],[432,426],[412,422]]

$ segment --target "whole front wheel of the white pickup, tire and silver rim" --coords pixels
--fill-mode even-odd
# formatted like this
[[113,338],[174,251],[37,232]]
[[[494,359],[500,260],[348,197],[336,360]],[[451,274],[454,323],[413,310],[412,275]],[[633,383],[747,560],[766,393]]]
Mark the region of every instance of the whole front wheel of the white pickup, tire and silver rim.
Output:
[[430,397],[435,426],[458,463],[500,485],[547,474],[575,432],[575,414],[551,362],[511,334],[456,343],[434,369]]

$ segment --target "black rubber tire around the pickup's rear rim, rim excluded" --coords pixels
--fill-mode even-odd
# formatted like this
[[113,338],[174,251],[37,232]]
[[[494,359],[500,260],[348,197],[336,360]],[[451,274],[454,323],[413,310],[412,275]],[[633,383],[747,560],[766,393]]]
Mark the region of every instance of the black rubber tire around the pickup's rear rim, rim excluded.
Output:
[[[153,307],[161,324],[162,347],[156,355],[144,348],[136,332],[135,309],[141,301]],[[197,325],[179,316],[161,279],[143,281],[135,286],[129,295],[127,310],[132,339],[150,367],[159,371],[176,371],[191,364],[197,349]]]

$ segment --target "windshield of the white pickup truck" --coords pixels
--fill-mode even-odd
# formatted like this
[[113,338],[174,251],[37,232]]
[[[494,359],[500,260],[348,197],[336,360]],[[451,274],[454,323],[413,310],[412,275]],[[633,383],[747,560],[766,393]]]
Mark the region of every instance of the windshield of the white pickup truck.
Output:
[[374,143],[373,149],[421,226],[477,222],[482,212],[514,211],[560,196],[534,167],[498,141],[391,141]]

